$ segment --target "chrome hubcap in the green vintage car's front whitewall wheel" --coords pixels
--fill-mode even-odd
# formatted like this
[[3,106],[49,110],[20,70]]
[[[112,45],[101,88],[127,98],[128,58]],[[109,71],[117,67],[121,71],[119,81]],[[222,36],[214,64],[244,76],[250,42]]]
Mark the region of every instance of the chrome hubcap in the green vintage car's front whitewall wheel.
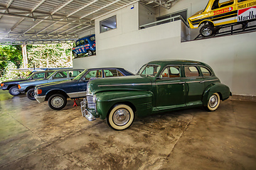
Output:
[[116,125],[126,125],[130,119],[130,113],[125,108],[120,108],[114,112],[113,121]]

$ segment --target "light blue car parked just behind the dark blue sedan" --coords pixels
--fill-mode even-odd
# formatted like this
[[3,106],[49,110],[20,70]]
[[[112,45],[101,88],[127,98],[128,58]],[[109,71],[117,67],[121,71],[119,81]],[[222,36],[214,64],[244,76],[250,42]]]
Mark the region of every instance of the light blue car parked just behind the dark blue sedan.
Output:
[[26,81],[26,82],[21,82],[18,84],[18,91],[21,93],[26,93],[26,96],[33,100],[36,101],[34,98],[35,92],[34,89],[37,85],[40,84],[46,84],[50,83],[53,81],[65,81],[69,79],[73,79],[78,74],[80,74],[84,69],[60,69],[56,70],[53,72],[53,74],[50,74],[46,79],[37,79],[37,80],[31,80],[31,81]]

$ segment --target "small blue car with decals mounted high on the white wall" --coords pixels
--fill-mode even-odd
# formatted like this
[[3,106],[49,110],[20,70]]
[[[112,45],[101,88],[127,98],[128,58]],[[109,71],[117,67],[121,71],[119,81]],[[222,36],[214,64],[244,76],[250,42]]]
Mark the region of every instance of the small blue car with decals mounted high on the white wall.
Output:
[[95,34],[80,38],[75,42],[75,47],[72,48],[72,53],[74,57],[79,57],[79,55],[82,55],[84,53],[88,53],[88,55],[93,55],[95,51]]

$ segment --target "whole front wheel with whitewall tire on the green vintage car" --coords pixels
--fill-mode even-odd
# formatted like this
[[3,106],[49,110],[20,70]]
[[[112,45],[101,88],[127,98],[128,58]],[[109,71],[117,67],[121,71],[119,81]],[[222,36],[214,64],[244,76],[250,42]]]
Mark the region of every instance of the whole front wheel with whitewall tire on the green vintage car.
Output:
[[134,122],[134,111],[125,104],[114,106],[107,115],[107,125],[114,130],[125,130]]

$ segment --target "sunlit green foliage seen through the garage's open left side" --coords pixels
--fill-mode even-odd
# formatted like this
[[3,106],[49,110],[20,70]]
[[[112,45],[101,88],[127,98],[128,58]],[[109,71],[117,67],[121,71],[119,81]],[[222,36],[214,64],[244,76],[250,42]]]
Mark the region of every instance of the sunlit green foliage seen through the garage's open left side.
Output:
[[[72,43],[26,45],[28,68],[72,67]],[[10,69],[22,68],[23,57],[21,45],[0,46],[0,79],[23,77],[21,72],[11,72]],[[8,74],[8,75],[7,75]]]

